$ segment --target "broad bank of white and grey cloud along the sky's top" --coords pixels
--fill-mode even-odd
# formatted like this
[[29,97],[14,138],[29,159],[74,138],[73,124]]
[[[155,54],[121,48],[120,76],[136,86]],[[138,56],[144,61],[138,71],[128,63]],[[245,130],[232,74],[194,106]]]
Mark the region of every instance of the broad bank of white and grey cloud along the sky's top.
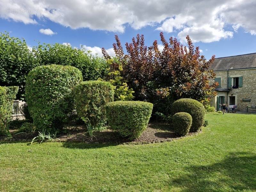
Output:
[[[256,35],[255,0],[0,0],[0,17],[25,24],[45,18],[72,29],[90,28],[113,32],[152,26],[164,32],[178,32],[201,42],[232,38],[243,28]],[[227,25],[233,30],[227,30]],[[54,33],[54,32],[53,32]],[[53,34],[52,34],[53,35]]]

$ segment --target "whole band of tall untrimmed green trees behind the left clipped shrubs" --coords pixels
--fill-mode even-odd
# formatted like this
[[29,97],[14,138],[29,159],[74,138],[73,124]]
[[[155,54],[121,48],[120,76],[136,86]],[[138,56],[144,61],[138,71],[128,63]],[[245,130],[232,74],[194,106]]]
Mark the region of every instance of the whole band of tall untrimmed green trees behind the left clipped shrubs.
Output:
[[[108,63],[83,48],[63,44],[38,44],[29,50],[24,39],[0,33],[0,86],[19,86],[17,99],[24,100],[28,72],[42,65],[70,65],[82,71],[84,81],[104,78]],[[14,67],[15,66],[15,67]]]

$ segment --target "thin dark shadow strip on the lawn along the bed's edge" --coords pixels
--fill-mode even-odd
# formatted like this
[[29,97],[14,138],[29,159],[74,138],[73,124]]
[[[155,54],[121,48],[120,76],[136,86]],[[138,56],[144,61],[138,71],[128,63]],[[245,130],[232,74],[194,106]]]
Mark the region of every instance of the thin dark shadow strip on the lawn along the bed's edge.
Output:
[[81,143],[81,142],[63,142],[63,147],[72,149],[94,149],[119,145],[118,143]]

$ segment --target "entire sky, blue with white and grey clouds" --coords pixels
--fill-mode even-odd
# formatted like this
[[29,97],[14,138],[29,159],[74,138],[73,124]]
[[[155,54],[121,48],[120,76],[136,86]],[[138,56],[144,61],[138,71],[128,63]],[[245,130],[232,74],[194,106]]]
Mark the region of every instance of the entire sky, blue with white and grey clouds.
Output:
[[144,34],[150,46],[159,33],[189,35],[210,58],[256,52],[255,0],[0,0],[0,32],[24,37],[29,46],[64,43],[101,55]]

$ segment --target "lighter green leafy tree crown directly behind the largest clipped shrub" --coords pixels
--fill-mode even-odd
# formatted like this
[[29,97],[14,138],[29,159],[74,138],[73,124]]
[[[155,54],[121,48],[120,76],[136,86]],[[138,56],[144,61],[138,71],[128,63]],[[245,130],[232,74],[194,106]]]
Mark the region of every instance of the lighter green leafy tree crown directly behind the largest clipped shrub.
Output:
[[107,73],[107,62],[100,57],[92,56],[83,47],[77,49],[69,44],[39,44],[33,53],[39,65],[57,64],[78,68],[83,74],[84,81],[97,80]]

